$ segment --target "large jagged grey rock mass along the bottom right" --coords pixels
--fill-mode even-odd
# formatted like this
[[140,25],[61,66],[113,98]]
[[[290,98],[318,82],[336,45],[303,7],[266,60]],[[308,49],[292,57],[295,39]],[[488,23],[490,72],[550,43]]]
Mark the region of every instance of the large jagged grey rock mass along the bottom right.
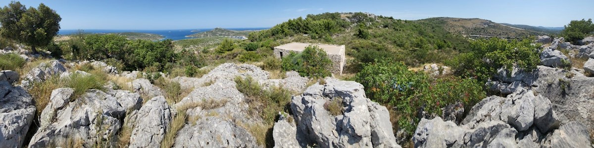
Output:
[[[440,117],[423,118],[413,135],[415,147],[587,147],[590,137],[579,123],[563,124],[542,95],[522,89],[507,98],[489,96],[470,110],[462,125]],[[559,136],[565,132],[579,133]]]

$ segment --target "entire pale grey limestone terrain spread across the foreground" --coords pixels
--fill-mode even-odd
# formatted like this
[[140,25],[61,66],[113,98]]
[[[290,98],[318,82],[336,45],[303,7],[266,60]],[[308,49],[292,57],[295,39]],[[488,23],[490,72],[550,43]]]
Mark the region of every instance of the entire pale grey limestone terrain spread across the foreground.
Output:
[[[539,37],[536,42],[544,45],[536,70],[500,69],[500,75],[486,83],[489,91],[499,95],[482,99],[466,115],[451,105],[441,117],[423,118],[413,134],[413,146],[592,147],[592,39],[571,44],[563,38]],[[561,49],[575,54],[565,55]],[[18,51],[2,53],[23,54],[29,61],[36,58]],[[579,69],[570,66],[572,57],[589,59]],[[39,98],[33,98],[31,86],[53,78],[71,79],[75,73],[96,75],[73,68],[84,63],[130,81],[124,83],[127,86],[109,82],[81,94],[75,88],[52,89],[47,105],[39,111]],[[443,73],[447,72],[432,75]],[[0,147],[264,147],[258,133],[270,134],[266,140],[274,147],[403,144],[397,143],[392,130],[396,125],[390,122],[388,110],[393,109],[367,98],[358,82],[326,78],[311,83],[293,71],[283,79],[270,79],[270,73],[258,66],[224,63],[201,78],[168,78],[163,73],[166,80],[189,90],[179,101],[171,101],[166,88],[144,75],[118,72],[103,62],[65,60],[41,62],[23,75],[2,70]],[[277,111],[273,128],[254,132],[253,127],[265,119],[250,114],[259,107],[251,105],[253,98],[238,88],[236,80],[247,78],[261,85],[261,91],[282,86],[295,92],[287,112]]]

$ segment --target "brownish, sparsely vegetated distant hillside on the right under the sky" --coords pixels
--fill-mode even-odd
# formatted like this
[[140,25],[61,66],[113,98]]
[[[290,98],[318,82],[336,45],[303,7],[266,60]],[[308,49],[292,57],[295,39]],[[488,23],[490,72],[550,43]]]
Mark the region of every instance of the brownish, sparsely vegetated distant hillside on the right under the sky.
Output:
[[443,21],[444,29],[463,36],[525,37],[546,34],[541,31],[498,24],[479,18],[427,18],[419,21]]

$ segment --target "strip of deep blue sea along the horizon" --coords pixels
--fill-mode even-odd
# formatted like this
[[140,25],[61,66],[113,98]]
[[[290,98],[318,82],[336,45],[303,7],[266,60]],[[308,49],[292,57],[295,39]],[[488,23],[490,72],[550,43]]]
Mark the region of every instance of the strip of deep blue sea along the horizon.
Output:
[[[228,30],[265,30],[268,28],[226,28]],[[184,40],[191,37],[186,37],[190,34],[201,33],[204,31],[210,31],[213,28],[206,28],[206,29],[181,29],[181,30],[83,30],[84,33],[127,33],[127,32],[135,32],[135,33],[152,33],[152,34],[160,34],[161,36],[165,37],[165,39],[171,40]],[[78,30],[60,30],[58,34],[60,35],[68,35],[76,33]]]

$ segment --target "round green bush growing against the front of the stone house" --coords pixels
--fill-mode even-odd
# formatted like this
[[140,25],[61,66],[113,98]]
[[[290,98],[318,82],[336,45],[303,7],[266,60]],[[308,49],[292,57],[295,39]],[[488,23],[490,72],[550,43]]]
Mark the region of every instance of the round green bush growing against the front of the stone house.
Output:
[[295,70],[299,75],[309,78],[324,78],[330,76],[328,71],[332,61],[328,54],[318,46],[308,46],[301,53],[290,53],[283,57],[283,70]]

